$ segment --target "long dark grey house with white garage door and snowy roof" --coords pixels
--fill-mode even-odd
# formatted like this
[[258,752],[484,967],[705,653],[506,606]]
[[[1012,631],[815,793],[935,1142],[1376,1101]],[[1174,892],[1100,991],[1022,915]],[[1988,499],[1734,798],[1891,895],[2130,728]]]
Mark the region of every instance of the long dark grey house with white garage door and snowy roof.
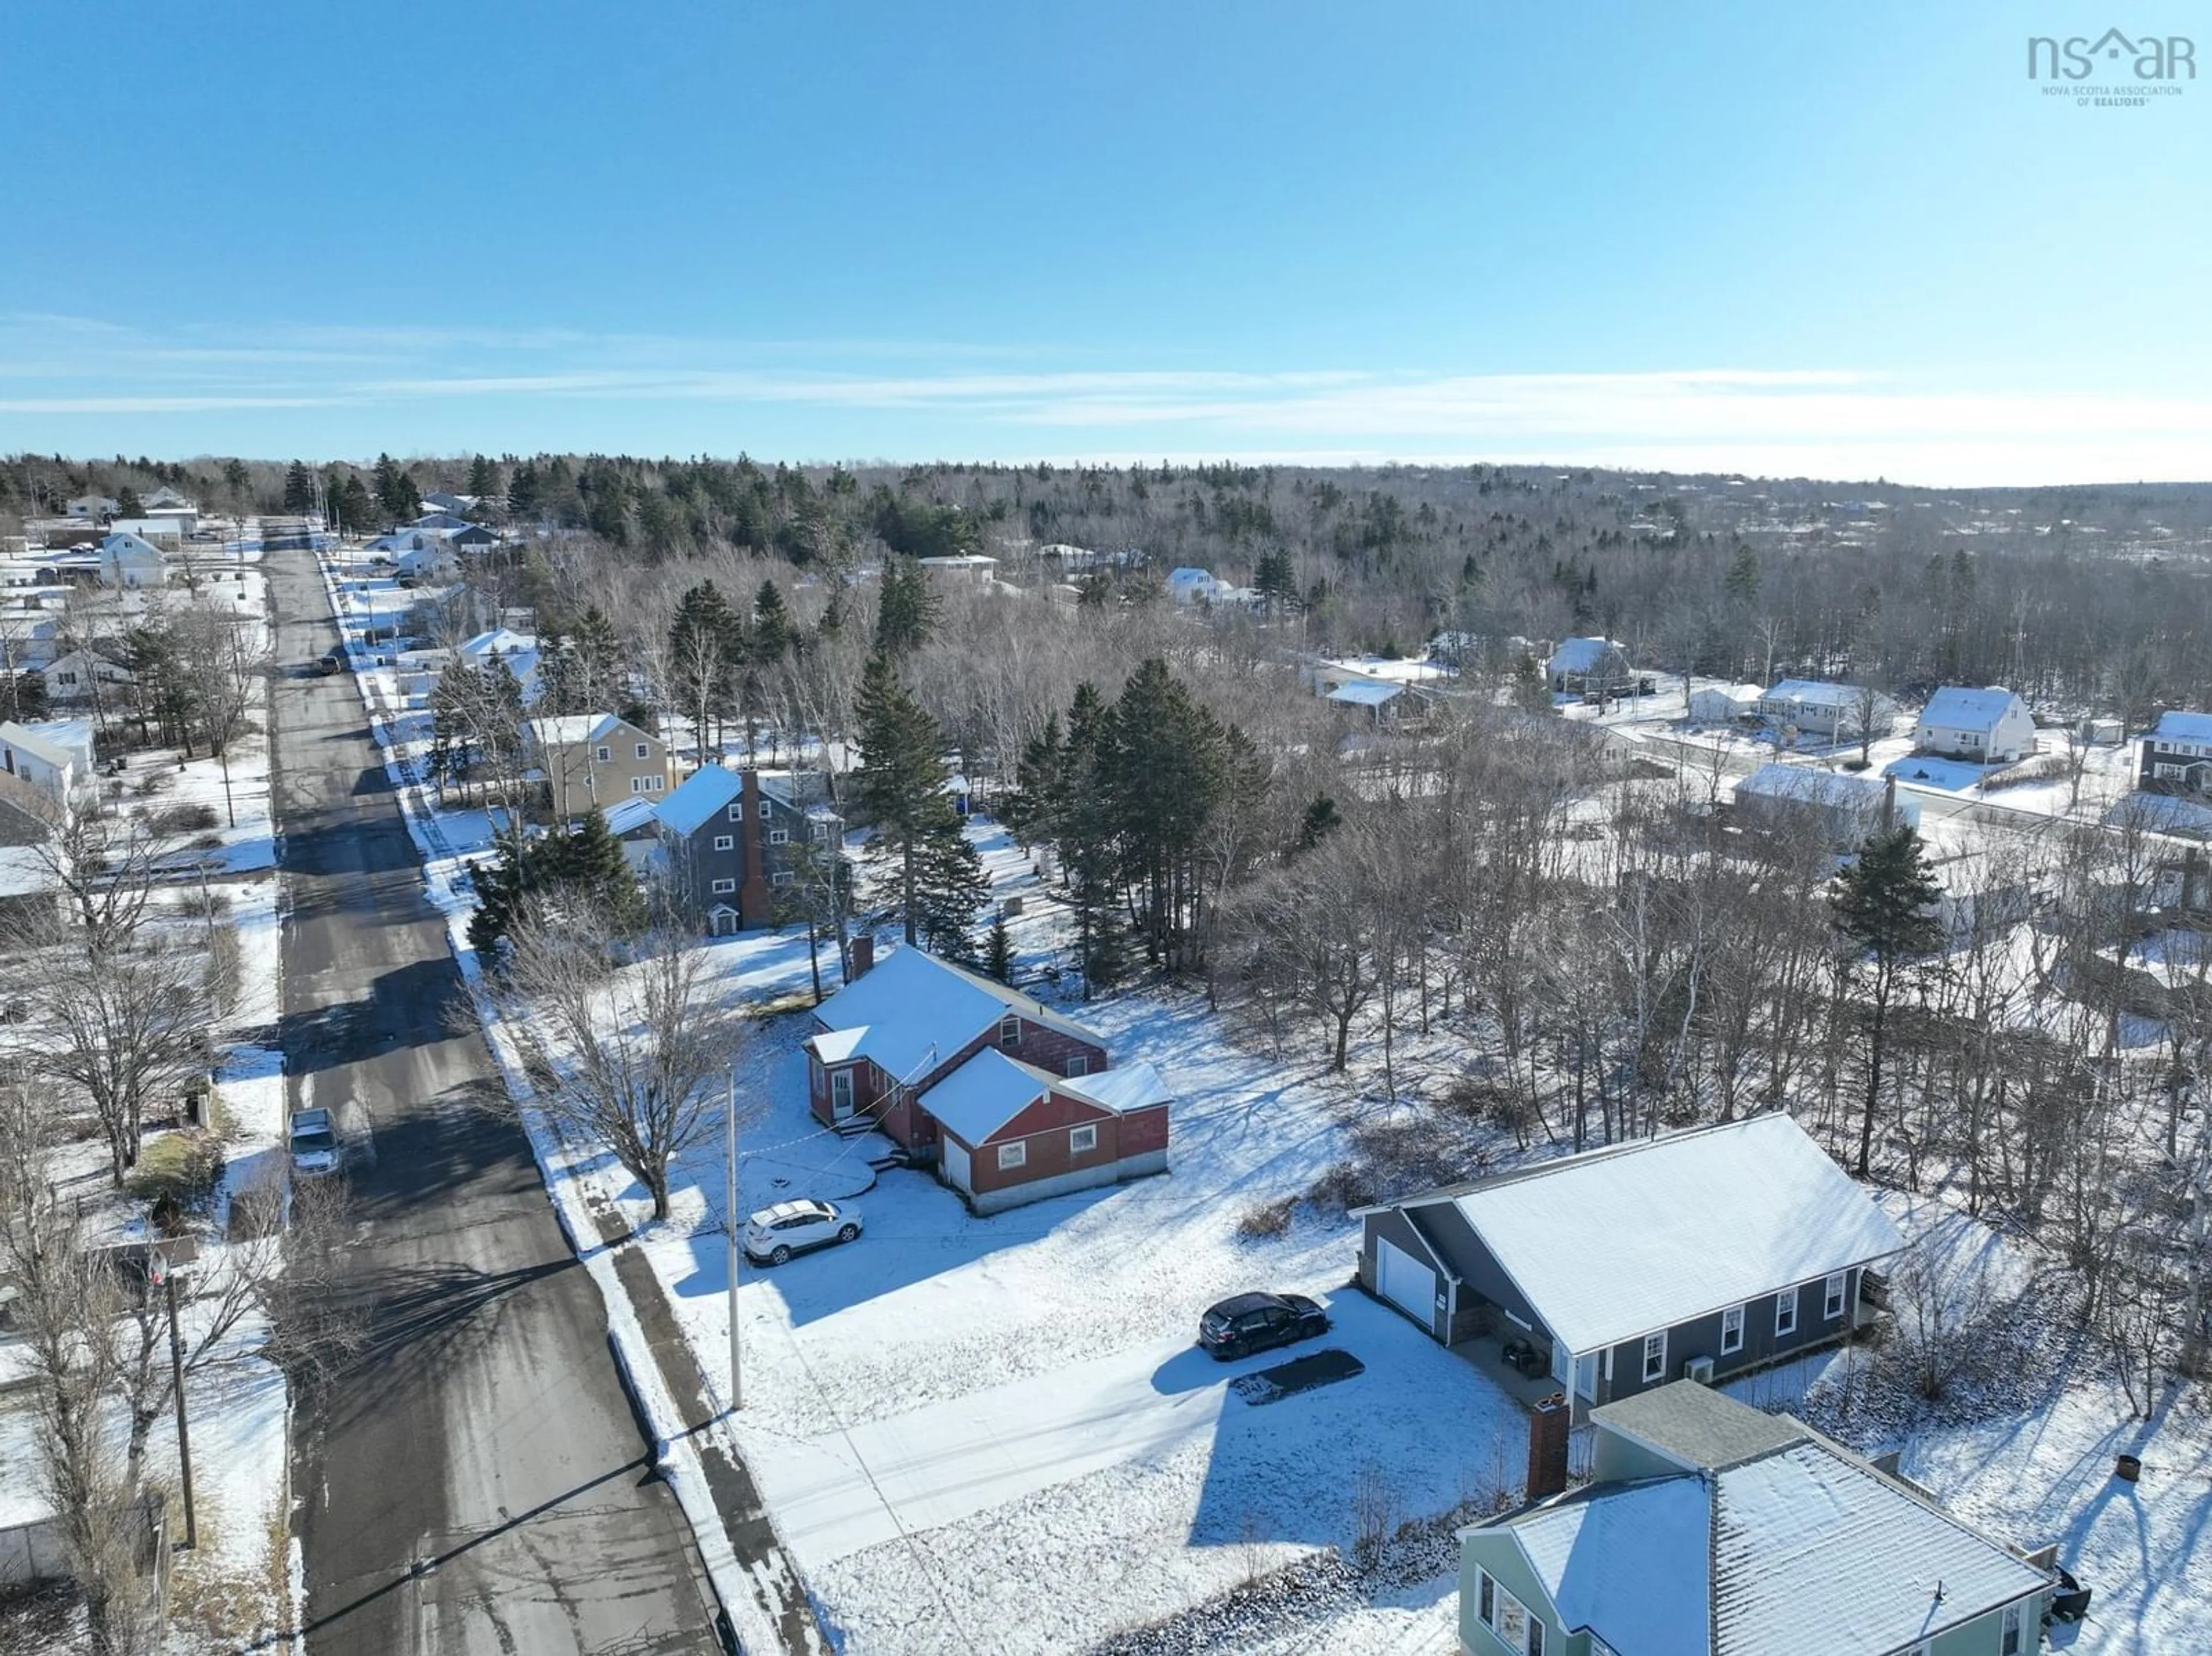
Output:
[[1582,1404],[1847,1338],[1889,1216],[1787,1114],[1358,1209],[1358,1280],[1442,1344],[1522,1340]]

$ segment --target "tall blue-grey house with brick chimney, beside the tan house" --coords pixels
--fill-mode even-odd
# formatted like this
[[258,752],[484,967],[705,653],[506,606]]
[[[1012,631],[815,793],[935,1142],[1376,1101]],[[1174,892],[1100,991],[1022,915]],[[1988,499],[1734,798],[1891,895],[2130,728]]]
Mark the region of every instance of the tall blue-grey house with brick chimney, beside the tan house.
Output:
[[776,891],[796,880],[801,851],[843,845],[812,774],[701,765],[655,818],[670,880],[714,937],[774,924]]

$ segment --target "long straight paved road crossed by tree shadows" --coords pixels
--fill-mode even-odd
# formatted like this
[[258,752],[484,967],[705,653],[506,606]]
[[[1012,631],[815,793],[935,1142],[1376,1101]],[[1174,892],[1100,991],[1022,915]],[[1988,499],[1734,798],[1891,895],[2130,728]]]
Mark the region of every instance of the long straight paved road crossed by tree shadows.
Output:
[[[270,553],[276,659],[332,646],[310,553]],[[367,1353],[294,1442],[310,1656],[714,1652],[712,1599],[522,1134],[449,1033],[460,979],[347,677],[272,696],[292,1108],[374,1147],[341,1289]]]

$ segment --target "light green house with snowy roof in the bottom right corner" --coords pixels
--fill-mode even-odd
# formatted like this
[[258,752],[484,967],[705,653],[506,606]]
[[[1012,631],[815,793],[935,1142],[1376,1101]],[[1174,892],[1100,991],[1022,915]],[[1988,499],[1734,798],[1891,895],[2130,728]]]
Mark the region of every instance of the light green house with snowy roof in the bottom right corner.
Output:
[[[1542,1422],[1537,1422],[1542,1426]],[[1531,1437],[1533,1503],[1460,1530],[1464,1656],[2026,1656],[2057,1572],[1893,1466],[1674,1382]]]

